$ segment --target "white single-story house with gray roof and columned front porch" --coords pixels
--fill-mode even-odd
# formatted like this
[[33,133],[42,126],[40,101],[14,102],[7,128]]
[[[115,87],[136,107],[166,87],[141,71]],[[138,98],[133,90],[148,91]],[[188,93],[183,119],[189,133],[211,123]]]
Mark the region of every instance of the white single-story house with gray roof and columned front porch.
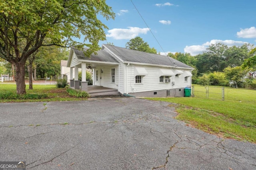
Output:
[[[93,70],[93,85],[117,89],[124,96],[178,97],[191,86],[193,68],[171,57],[135,51],[111,45],[89,57],[71,48],[67,66],[74,79],[70,86],[88,90],[86,68]],[[78,80],[82,68],[82,81]],[[70,75],[73,77],[73,75]]]

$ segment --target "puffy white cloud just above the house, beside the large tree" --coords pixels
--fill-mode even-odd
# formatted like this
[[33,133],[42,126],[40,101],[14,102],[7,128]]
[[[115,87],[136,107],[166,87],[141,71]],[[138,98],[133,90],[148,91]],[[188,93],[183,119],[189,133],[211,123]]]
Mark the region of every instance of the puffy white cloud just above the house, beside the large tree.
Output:
[[108,30],[106,37],[113,37],[114,39],[132,39],[139,34],[146,34],[149,28],[128,27],[129,29],[114,28]]

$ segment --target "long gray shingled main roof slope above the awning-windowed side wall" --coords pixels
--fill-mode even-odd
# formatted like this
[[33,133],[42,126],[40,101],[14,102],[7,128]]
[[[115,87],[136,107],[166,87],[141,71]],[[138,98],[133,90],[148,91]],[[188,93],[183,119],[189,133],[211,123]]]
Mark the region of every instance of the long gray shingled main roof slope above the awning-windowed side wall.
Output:
[[188,66],[187,64],[184,64],[168,56],[145,53],[141,51],[126,49],[126,48],[116,47],[116,46],[111,46],[106,44],[104,44],[104,46],[106,46],[110,51],[112,51],[114,54],[116,54],[118,57],[120,57],[123,61],[126,61],[126,62],[160,64],[160,65],[192,68],[191,66]]

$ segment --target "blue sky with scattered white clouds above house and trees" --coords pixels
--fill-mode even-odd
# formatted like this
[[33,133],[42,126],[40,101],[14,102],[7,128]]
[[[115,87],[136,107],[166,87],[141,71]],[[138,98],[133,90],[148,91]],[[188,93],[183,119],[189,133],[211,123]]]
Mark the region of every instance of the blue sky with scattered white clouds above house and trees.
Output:
[[[156,41],[148,27],[160,43]],[[139,36],[161,54],[197,55],[212,43],[241,46],[256,44],[256,3],[254,0],[106,0],[116,13],[108,26],[106,41],[125,47]],[[162,48],[161,48],[162,47]]]

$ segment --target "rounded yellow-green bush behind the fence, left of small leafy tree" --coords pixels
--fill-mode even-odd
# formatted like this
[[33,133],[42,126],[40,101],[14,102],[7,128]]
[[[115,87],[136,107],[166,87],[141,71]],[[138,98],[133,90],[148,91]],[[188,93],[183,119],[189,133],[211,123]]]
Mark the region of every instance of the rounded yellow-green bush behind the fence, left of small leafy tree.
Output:
[[228,86],[228,80],[226,80],[225,74],[223,72],[216,72],[208,74],[210,79],[210,85],[213,86]]

